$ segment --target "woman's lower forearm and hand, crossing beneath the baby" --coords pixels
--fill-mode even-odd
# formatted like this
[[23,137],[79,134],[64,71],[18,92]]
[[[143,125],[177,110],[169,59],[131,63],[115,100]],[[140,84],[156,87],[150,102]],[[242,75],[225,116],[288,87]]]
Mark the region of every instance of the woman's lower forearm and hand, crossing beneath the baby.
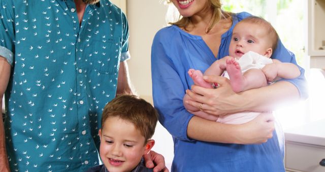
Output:
[[274,119],[263,113],[254,120],[240,125],[224,124],[193,117],[187,126],[188,137],[201,141],[231,144],[261,144],[272,138]]

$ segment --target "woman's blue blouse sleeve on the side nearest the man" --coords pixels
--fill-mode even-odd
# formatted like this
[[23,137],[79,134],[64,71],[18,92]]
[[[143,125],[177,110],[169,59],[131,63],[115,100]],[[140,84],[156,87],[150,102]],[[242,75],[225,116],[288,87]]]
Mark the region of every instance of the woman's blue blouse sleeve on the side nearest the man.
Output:
[[[159,122],[173,137],[190,141],[187,125],[193,114],[183,106],[186,85],[182,83],[168,53],[171,53],[166,36],[156,34],[151,47],[151,73],[154,107],[159,112]],[[193,140],[191,140],[193,141]]]

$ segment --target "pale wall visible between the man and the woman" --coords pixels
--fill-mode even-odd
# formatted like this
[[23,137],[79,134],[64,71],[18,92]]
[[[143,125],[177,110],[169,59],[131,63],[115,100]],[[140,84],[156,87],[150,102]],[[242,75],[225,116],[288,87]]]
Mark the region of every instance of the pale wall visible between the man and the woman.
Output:
[[[130,31],[129,51],[132,56],[128,61],[131,81],[140,97],[152,103],[151,43],[155,33],[167,26],[165,15],[168,7],[160,3],[160,0],[126,2]],[[153,150],[163,154],[167,166],[170,167],[174,155],[171,135],[158,123],[153,139],[156,141]]]

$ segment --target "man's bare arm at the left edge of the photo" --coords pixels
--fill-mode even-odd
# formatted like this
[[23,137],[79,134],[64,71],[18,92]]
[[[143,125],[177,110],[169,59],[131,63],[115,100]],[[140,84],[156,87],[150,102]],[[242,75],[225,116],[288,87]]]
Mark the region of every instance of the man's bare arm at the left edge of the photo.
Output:
[[[2,99],[4,97],[5,91],[10,77],[10,64],[5,58],[0,56],[0,107],[2,107]],[[6,136],[4,122],[2,118],[2,108],[0,109],[0,171],[9,171],[9,162],[6,152]]]

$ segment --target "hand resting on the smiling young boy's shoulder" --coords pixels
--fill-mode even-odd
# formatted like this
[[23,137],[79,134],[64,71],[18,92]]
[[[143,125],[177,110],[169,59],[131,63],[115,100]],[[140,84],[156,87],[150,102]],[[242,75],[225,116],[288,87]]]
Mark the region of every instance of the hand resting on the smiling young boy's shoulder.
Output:
[[[143,156],[146,167],[147,168],[153,168],[154,172],[163,171],[163,172],[169,172],[168,168],[165,165],[165,158],[163,155],[160,155],[154,151],[150,151],[148,154]],[[154,166],[154,164],[157,164]]]

